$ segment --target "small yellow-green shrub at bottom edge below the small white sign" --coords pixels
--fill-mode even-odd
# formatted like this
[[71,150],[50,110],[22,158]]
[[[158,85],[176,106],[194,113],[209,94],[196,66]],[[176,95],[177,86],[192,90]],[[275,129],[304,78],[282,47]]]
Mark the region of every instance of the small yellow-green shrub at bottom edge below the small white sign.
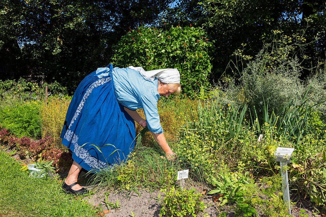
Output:
[[196,217],[205,208],[207,207],[201,201],[200,194],[195,194],[192,190],[186,191],[171,188],[165,192],[160,216]]

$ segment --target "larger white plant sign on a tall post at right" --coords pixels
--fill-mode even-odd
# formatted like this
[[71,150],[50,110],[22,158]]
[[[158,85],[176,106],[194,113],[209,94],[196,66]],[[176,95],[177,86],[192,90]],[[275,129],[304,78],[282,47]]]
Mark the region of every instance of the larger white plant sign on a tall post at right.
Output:
[[[290,163],[290,156],[292,155],[294,148],[277,147],[274,152],[274,160],[280,162],[281,174],[282,174],[282,192],[285,205],[288,207],[288,214],[291,215],[290,204],[290,192],[289,192],[289,178],[287,163]],[[283,167],[285,168],[283,169]]]

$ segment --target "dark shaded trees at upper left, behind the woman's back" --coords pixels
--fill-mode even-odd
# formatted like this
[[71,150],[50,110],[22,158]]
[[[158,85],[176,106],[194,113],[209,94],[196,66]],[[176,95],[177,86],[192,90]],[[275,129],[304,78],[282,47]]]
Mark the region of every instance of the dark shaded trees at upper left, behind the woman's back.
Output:
[[2,65],[16,78],[58,80],[74,90],[86,74],[110,62],[111,45],[129,28],[152,24],[169,3],[0,0]]

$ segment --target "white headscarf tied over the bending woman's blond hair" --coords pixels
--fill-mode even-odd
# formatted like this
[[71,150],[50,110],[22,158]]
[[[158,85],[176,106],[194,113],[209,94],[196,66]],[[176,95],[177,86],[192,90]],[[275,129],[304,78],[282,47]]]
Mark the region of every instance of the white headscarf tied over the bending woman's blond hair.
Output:
[[164,68],[151,71],[145,71],[142,67],[129,66],[128,68],[139,71],[144,79],[154,81],[155,78],[163,83],[180,84],[180,73],[176,68]]

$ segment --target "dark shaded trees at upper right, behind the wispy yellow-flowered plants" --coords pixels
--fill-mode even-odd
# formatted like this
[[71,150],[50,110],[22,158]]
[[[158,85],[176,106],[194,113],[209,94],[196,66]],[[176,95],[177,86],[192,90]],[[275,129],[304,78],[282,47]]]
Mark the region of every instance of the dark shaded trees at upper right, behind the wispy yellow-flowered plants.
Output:
[[[194,0],[183,0],[167,18],[171,24],[204,26],[214,42],[213,71],[215,78],[224,72],[233,52],[245,43],[246,54],[254,56],[264,41],[272,42],[273,30],[286,35],[305,34],[305,52],[317,62],[325,51],[325,0],[275,1],[275,0],[204,0],[196,6]],[[174,15],[173,15],[174,14]],[[302,15],[300,19],[299,15]],[[308,19],[307,19],[308,18]],[[315,37],[320,38],[316,41]],[[308,63],[308,62],[307,62]],[[309,63],[311,67],[311,63]],[[306,68],[309,68],[308,66]],[[213,77],[213,78],[214,78]]]

